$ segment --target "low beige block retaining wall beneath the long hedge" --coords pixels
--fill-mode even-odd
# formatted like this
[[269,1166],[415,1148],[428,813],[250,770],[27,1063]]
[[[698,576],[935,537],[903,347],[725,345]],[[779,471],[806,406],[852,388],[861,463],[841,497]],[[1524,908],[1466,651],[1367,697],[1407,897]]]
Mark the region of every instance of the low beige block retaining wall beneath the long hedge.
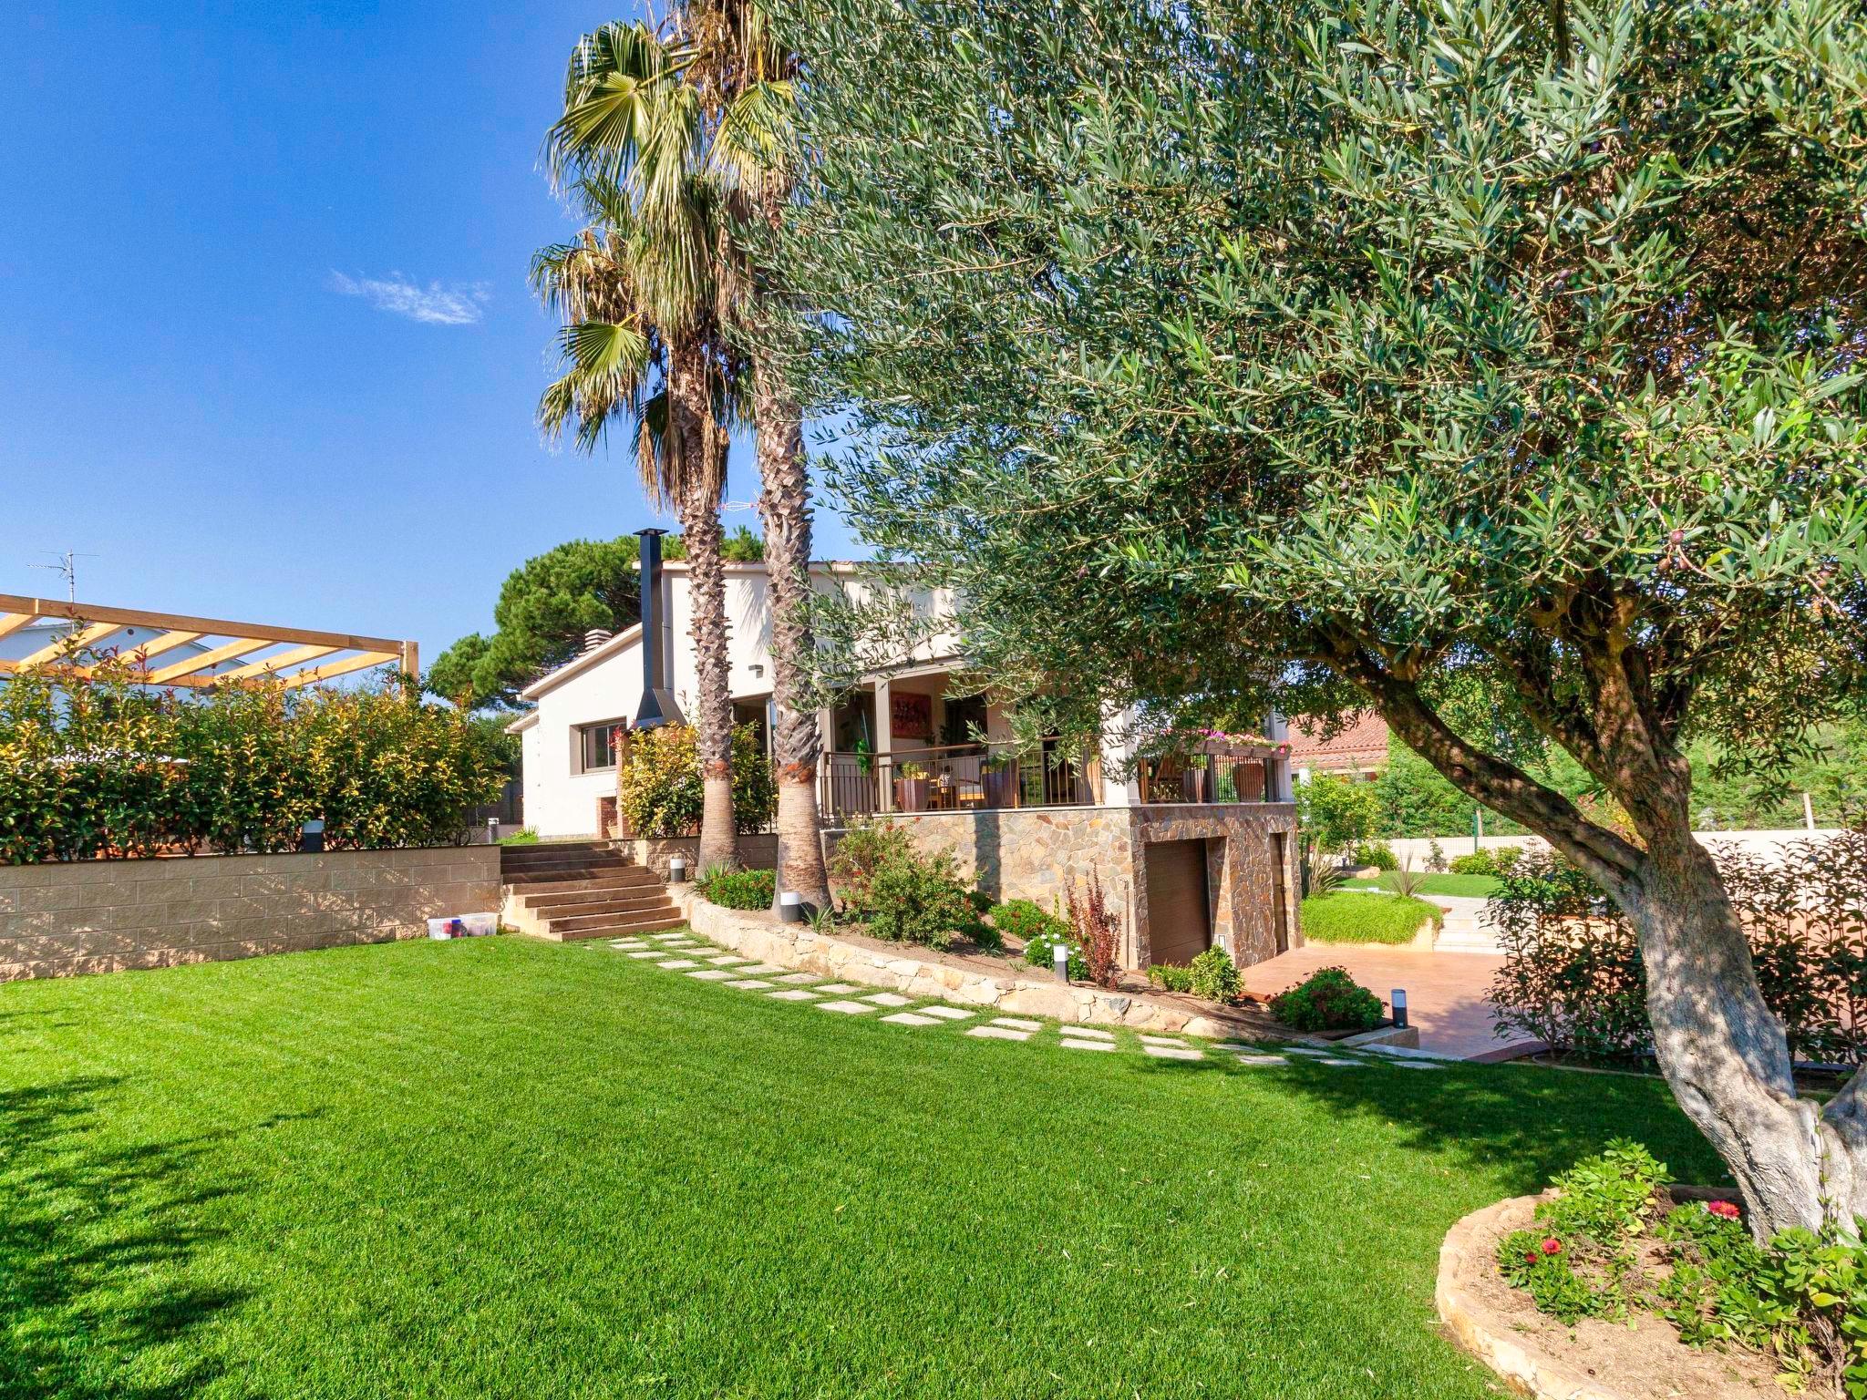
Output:
[[426,937],[495,913],[497,846],[0,866],[0,982]]

